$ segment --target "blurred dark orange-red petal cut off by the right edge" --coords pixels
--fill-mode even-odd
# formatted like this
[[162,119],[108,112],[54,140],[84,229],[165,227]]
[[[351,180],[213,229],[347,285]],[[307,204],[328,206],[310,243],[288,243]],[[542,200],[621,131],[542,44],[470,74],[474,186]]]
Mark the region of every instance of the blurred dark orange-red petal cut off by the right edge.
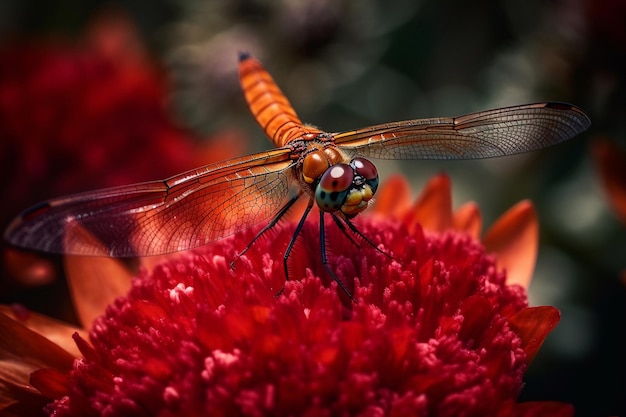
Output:
[[609,203],[626,223],[626,153],[612,141],[600,139],[592,154]]

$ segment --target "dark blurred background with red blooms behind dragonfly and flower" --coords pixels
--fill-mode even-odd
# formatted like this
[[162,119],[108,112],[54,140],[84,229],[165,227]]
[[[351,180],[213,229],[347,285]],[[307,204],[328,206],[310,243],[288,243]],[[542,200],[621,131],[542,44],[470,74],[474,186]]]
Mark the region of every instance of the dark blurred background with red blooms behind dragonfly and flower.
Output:
[[[562,319],[521,399],[624,413],[625,22],[624,0],[4,0],[0,226],[42,199],[269,148],[240,91],[240,51],[262,60],[302,120],[331,132],[571,102],[592,128],[551,149],[378,165],[415,195],[447,172],[455,204],[476,201],[485,229],[534,202],[530,301]],[[6,251],[0,301],[71,320],[58,261]]]

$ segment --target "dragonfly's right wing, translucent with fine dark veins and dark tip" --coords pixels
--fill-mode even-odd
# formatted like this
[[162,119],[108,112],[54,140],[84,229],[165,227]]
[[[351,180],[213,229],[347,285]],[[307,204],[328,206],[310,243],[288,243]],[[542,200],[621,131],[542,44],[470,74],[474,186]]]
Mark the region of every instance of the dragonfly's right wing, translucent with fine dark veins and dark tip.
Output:
[[537,103],[385,123],[338,133],[335,143],[353,154],[382,159],[492,158],[563,142],[590,125],[575,106]]

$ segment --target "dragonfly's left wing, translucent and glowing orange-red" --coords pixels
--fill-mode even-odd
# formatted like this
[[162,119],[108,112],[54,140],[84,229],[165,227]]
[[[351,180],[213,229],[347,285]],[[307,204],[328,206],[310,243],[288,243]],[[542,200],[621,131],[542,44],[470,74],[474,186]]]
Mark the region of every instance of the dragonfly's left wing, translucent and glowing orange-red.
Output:
[[5,237],[46,252],[116,257],[195,248],[271,217],[292,184],[292,164],[289,149],[276,149],[50,200],[22,213]]

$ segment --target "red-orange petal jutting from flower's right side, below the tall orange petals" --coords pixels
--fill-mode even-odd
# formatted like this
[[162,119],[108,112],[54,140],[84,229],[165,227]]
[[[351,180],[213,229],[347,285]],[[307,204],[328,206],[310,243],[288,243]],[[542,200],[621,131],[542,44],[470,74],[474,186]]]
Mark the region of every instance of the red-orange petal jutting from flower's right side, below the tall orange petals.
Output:
[[559,310],[551,306],[528,307],[509,319],[511,328],[522,339],[527,363],[532,362],[543,341],[560,319]]

